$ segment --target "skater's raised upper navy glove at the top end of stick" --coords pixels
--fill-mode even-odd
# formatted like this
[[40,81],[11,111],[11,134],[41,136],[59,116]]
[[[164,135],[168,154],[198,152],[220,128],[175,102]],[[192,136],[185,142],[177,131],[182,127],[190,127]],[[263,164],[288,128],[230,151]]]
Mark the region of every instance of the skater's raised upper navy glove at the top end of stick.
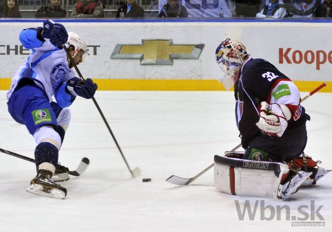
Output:
[[43,23],[42,37],[50,39],[54,46],[61,47],[68,40],[68,33],[60,23],[55,23],[53,20],[45,20]]

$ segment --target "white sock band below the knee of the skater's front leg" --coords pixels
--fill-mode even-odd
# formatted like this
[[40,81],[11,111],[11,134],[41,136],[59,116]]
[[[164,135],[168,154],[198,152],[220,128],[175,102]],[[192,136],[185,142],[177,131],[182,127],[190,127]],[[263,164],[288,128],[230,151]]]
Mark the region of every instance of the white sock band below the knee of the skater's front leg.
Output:
[[37,144],[42,142],[48,142],[53,144],[60,149],[61,146],[61,138],[60,135],[54,130],[52,126],[43,125],[39,127],[36,132],[33,134],[33,137]]

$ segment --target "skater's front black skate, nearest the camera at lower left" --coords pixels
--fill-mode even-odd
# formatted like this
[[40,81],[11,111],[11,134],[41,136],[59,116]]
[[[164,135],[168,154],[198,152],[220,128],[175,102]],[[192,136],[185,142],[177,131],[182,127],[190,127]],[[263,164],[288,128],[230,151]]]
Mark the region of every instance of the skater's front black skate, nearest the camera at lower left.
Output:
[[37,195],[64,199],[67,195],[67,190],[54,183],[51,176],[51,171],[43,169],[38,170],[36,177],[32,179],[31,185],[27,188],[27,191]]

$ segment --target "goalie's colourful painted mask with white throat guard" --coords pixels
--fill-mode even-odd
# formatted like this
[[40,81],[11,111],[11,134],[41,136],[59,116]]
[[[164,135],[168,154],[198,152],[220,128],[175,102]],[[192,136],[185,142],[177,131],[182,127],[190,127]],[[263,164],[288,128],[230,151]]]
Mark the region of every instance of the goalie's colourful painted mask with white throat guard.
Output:
[[226,90],[229,90],[238,79],[243,59],[247,56],[246,47],[227,38],[216,50],[216,61],[225,75],[220,79]]

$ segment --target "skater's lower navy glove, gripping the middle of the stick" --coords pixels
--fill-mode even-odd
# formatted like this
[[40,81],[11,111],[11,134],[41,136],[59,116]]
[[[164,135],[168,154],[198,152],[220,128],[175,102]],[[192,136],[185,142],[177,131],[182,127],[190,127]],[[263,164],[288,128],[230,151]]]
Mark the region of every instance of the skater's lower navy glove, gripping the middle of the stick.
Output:
[[67,81],[67,90],[74,96],[81,96],[86,99],[93,97],[98,88],[96,83],[93,83],[91,79],[86,79],[84,82],[79,78],[72,78]]

